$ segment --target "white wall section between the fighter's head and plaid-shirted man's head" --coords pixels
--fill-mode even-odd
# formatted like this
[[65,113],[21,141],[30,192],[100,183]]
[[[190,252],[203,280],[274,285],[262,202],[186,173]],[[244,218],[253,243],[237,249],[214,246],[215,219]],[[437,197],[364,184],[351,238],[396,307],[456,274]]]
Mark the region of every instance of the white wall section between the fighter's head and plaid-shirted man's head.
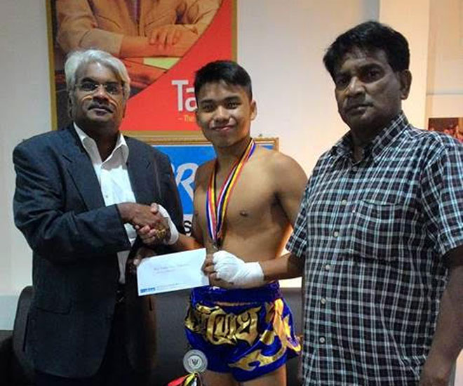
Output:
[[309,173],[318,156],[347,131],[337,115],[323,54],[340,32],[377,19],[379,4],[377,0],[282,4],[239,1],[238,60],[253,79],[258,108],[253,135],[279,137],[281,151]]

